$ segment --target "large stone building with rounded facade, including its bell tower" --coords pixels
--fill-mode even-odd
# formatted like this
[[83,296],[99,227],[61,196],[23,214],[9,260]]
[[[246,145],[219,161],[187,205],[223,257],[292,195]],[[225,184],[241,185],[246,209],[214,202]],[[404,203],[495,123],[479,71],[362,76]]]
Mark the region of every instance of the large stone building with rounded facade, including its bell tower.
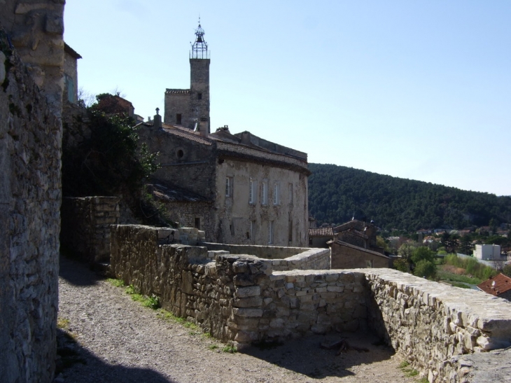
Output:
[[307,154],[228,126],[210,132],[209,52],[199,25],[190,89],[167,89],[165,115],[139,125],[160,152],[153,195],[210,242],[307,246]]

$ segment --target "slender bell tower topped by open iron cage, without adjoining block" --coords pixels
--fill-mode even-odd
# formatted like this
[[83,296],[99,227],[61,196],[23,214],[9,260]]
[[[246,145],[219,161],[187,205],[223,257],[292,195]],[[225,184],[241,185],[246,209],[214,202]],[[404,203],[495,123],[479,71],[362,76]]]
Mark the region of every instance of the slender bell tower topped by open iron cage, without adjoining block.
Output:
[[[195,42],[190,51],[190,123],[188,127],[209,134],[209,50],[204,29],[195,29]],[[203,131],[204,130],[204,131]],[[205,131],[207,130],[207,131]]]

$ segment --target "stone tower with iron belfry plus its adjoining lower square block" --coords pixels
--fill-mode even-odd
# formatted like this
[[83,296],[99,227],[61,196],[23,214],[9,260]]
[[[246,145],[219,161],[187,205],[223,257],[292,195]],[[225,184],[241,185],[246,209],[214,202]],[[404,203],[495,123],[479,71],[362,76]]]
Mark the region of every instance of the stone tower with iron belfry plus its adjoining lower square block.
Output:
[[165,91],[164,121],[209,134],[209,50],[200,22],[190,51],[190,89]]

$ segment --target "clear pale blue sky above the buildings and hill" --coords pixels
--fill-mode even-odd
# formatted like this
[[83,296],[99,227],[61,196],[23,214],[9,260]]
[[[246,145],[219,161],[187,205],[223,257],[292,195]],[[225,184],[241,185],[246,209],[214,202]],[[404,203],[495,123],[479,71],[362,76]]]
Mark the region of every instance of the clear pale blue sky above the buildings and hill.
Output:
[[163,113],[198,21],[211,132],[309,162],[511,195],[511,1],[67,0],[78,87]]

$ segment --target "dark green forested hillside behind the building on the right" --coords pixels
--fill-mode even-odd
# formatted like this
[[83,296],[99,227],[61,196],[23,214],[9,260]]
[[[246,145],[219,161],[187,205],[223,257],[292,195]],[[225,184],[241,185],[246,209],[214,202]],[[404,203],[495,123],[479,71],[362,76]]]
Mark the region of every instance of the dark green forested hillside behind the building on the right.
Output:
[[[384,229],[465,228],[511,222],[511,197],[399,179],[337,165],[309,164],[309,214],[321,223],[353,215]],[[495,222],[494,221],[494,222]]]

